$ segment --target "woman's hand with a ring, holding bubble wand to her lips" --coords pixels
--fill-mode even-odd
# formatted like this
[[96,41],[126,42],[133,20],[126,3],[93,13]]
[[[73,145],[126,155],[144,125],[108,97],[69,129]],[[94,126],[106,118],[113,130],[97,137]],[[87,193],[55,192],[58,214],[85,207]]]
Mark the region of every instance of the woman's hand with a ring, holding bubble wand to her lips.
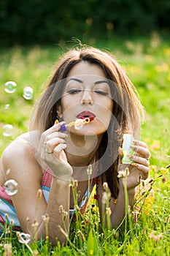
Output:
[[64,149],[67,147],[65,138],[67,135],[60,132],[61,125],[58,123],[42,133],[38,152],[42,160],[44,160],[53,171],[53,176],[61,179],[70,180],[72,177],[72,166],[66,159]]

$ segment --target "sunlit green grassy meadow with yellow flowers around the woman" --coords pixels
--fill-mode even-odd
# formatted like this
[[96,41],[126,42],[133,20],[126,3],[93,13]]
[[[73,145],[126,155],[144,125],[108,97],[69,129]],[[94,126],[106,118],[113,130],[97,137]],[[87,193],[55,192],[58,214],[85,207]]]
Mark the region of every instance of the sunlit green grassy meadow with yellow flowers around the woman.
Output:
[[[147,38],[109,38],[90,45],[112,52],[139,93],[146,118],[140,139],[151,152],[150,181],[141,182],[136,204],[139,214],[128,211],[125,225],[116,230],[101,229],[95,202],[85,217],[77,212],[74,235],[66,246],[52,247],[48,239],[20,243],[10,225],[0,236],[1,255],[170,255],[170,38],[154,32]],[[0,156],[11,140],[29,129],[31,108],[41,94],[53,64],[75,43],[0,50]],[[7,81],[15,81],[16,91],[4,91]],[[23,97],[23,89],[34,89],[33,97]],[[10,124],[10,127],[6,125]],[[5,127],[6,126],[6,127]],[[10,129],[9,129],[10,128]],[[72,186],[76,194],[76,187]]]

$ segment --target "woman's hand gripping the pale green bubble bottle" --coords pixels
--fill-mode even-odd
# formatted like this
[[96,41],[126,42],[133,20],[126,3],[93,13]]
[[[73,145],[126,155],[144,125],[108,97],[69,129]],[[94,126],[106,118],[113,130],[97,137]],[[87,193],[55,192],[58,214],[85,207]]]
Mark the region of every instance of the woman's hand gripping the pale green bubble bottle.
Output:
[[[118,171],[125,170],[128,167],[129,174],[127,176],[127,189],[134,189],[138,184],[140,179],[146,179],[149,176],[149,158],[150,151],[144,142],[135,140],[134,146],[131,146],[134,151],[133,156],[128,156],[133,162],[131,164],[119,164]],[[119,151],[120,158],[122,158],[121,150]],[[123,174],[123,173],[122,173]],[[123,175],[120,178],[124,178]]]

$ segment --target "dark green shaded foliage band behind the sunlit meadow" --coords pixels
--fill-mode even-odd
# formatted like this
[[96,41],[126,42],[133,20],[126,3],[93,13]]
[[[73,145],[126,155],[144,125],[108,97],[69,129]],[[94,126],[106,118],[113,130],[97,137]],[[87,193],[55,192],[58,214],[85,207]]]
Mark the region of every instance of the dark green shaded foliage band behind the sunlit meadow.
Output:
[[3,0],[1,44],[55,44],[71,37],[169,32],[169,0]]

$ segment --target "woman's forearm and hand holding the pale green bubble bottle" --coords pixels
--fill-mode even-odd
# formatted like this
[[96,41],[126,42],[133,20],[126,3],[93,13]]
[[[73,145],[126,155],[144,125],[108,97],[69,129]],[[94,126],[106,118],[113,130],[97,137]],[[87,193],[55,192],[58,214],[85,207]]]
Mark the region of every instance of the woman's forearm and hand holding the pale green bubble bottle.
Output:
[[[118,167],[119,170],[125,170],[125,167],[128,167],[129,174],[126,178],[123,176],[120,178],[120,188],[117,200],[112,197],[110,197],[109,200],[110,222],[112,228],[118,227],[123,221],[125,212],[127,211],[127,208],[125,208],[126,203],[128,203],[128,206],[133,206],[135,187],[139,184],[139,180],[146,179],[149,175],[148,158],[150,157],[150,152],[147,150],[146,145],[140,141],[136,142],[133,150],[134,156],[131,157],[131,159],[133,159],[134,163],[131,165],[119,165]],[[127,192],[128,202],[125,198],[125,191]],[[100,186],[98,192],[100,195],[98,206],[101,215],[101,222],[103,222],[104,225],[108,225],[106,218],[107,205],[104,204],[104,200],[102,202],[104,188]]]

